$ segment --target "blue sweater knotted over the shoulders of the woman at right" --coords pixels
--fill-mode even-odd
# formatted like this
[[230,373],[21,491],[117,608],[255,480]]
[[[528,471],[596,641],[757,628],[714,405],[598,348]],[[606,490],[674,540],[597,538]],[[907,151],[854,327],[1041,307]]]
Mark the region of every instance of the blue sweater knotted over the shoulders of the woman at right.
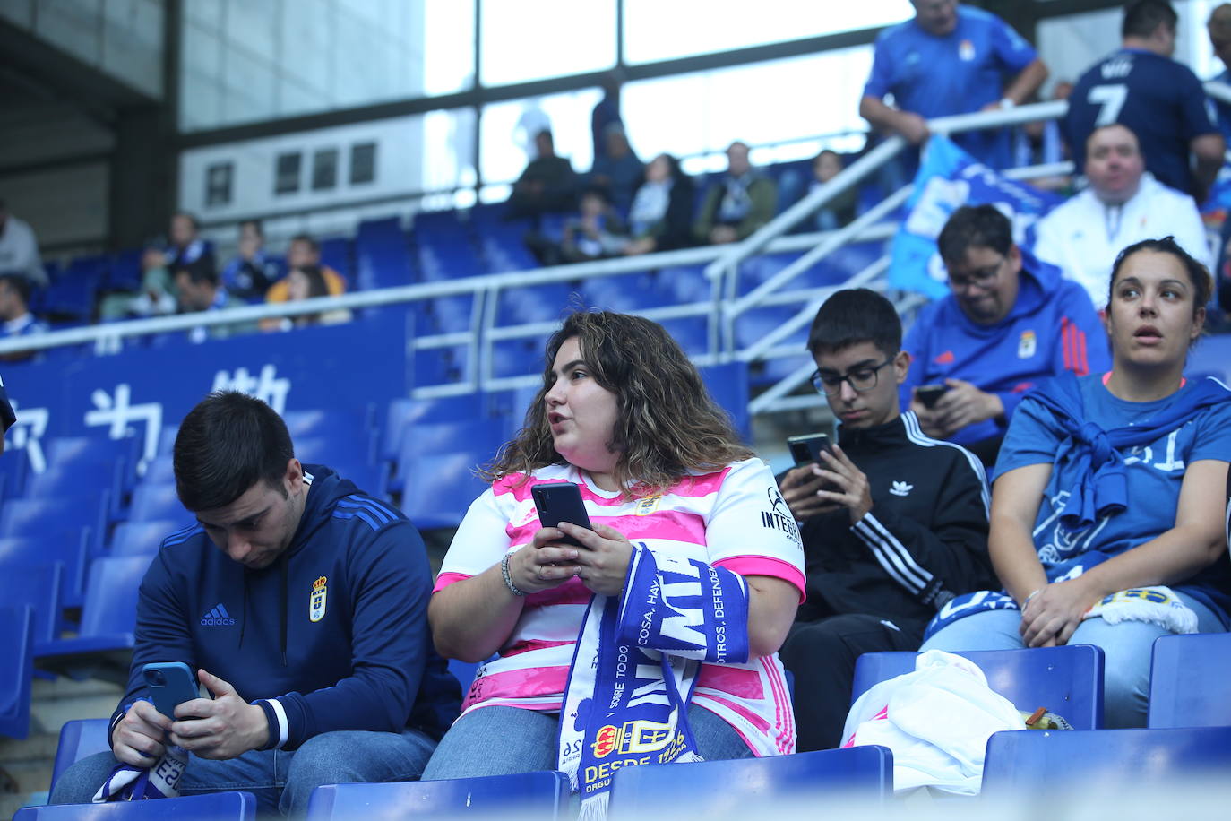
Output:
[[1128,506],[1126,465],[1119,448],[1153,442],[1206,407],[1231,400],[1231,390],[1217,379],[1206,377],[1156,416],[1110,431],[1085,420],[1081,386],[1077,377],[1067,370],[1032,390],[1028,396],[1051,411],[1067,435],[1060,443],[1055,464],[1067,467],[1065,475],[1072,465],[1077,468],[1073,471],[1075,486],[1066,489],[1071,494],[1070,500],[1076,500],[1076,503],[1071,501],[1065,506],[1060,522],[1076,531],[1091,527],[1101,517],[1119,513]]

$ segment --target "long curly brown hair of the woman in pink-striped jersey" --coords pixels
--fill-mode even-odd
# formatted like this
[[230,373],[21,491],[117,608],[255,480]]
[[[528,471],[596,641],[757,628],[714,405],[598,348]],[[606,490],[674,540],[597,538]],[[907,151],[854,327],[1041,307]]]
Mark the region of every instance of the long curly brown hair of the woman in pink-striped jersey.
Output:
[[617,398],[607,448],[619,454],[614,474],[625,499],[662,492],[689,471],[755,455],[661,325],[630,314],[576,311],[548,341],[543,386],[526,411],[524,427],[481,471],[487,481],[515,473],[528,481],[532,470],[566,463],[553,444],[544,398],[553,385],[555,356],[572,337],[595,380]]

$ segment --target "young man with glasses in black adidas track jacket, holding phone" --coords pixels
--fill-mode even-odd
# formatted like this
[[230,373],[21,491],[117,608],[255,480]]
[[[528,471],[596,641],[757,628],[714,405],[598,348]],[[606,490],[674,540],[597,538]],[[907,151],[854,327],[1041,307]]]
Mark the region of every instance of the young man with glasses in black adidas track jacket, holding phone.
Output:
[[840,290],[812,320],[812,382],[841,422],[820,463],[779,479],[800,523],[808,598],[780,650],[795,676],[798,750],[840,746],[856,659],[916,650],[953,596],[991,582],[987,485],[965,448],[900,412],[911,369],[888,299]]

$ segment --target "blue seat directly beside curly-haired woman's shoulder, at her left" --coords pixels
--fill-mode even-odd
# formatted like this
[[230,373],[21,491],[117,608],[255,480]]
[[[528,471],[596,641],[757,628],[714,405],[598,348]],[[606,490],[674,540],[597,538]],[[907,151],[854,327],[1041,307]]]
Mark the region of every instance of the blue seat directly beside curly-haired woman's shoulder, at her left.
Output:
[[470,502],[487,489],[475,468],[495,455],[495,451],[454,451],[406,457],[399,464],[405,476],[401,512],[420,529],[457,527]]

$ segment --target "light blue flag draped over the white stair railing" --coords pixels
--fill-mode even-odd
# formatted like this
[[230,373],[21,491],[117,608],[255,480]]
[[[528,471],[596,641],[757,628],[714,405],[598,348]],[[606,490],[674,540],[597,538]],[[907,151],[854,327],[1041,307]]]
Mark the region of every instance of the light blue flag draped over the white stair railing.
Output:
[[1030,226],[1061,202],[1056,194],[993,171],[948,137],[934,135],[915,175],[915,191],[906,201],[906,220],[894,238],[889,284],[932,299],[949,293],[936,238],[961,206],[996,206],[1013,223],[1013,241],[1028,247]]

